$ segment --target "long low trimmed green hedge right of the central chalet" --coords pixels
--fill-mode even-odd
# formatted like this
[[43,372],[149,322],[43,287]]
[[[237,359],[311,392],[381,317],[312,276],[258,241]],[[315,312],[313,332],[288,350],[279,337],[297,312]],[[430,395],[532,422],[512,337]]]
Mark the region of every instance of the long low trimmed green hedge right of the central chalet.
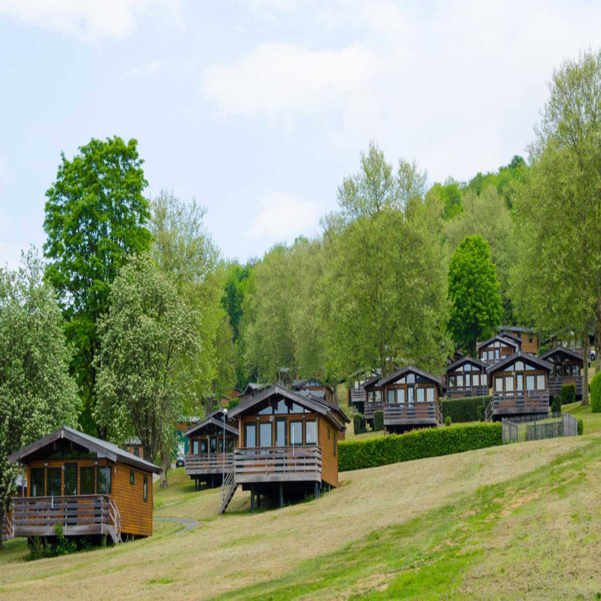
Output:
[[338,445],[338,470],[376,468],[452,453],[495,447],[501,444],[501,424],[470,424],[448,428],[411,430],[368,438],[365,441],[344,441]]

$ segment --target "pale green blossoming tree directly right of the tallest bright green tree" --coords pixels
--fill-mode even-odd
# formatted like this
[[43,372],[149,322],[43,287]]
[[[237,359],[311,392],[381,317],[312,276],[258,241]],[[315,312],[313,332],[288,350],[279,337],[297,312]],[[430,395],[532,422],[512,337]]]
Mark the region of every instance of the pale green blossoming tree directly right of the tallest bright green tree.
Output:
[[138,436],[153,461],[171,448],[173,423],[194,394],[198,312],[148,253],[122,267],[110,301],[99,323],[95,418],[117,444]]

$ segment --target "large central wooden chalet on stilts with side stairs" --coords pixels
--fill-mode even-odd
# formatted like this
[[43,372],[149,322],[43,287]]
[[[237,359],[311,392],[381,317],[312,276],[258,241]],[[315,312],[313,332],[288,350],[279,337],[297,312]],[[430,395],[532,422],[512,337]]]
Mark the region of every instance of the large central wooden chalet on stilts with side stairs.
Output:
[[323,401],[281,385],[271,386],[230,411],[239,420],[233,465],[221,487],[223,513],[238,486],[279,498],[338,486],[338,440],[344,423]]

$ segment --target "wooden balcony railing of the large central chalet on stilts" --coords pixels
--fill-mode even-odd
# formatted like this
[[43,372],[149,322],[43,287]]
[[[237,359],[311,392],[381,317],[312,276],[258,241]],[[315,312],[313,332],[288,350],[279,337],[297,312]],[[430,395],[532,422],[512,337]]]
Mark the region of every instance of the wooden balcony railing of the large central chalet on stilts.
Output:
[[322,449],[317,445],[234,449],[237,484],[321,481]]

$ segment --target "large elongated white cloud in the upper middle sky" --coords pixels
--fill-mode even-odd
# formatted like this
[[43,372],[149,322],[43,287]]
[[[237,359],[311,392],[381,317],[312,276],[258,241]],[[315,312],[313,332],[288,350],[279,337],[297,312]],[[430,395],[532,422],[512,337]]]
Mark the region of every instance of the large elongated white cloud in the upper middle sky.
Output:
[[376,57],[359,43],[312,50],[273,41],[234,64],[209,67],[201,90],[224,113],[312,111],[339,102],[376,70]]

